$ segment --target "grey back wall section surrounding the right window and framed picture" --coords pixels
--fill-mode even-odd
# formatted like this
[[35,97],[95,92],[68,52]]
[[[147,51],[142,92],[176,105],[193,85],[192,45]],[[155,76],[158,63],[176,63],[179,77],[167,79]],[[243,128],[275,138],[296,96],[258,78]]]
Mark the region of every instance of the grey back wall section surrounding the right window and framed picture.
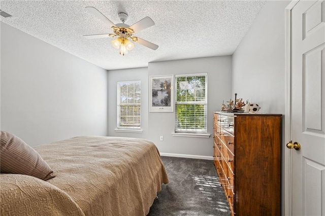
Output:
[[[161,153],[213,156],[213,112],[220,111],[222,100],[231,97],[232,56],[185,59],[149,63],[149,76],[208,74],[208,133],[210,138],[172,136],[175,112],[149,113],[149,136]],[[147,103],[148,104],[148,103]],[[160,135],[164,141],[160,141]]]

